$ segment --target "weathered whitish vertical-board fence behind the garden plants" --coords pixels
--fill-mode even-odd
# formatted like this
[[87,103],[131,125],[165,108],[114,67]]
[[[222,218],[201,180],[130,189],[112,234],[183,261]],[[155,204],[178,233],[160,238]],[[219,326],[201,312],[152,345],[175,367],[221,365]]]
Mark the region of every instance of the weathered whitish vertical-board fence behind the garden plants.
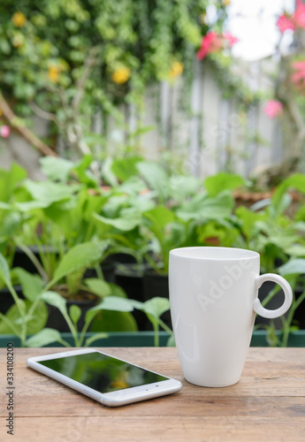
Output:
[[[266,66],[270,71],[268,63],[242,67],[244,81],[253,90],[272,88],[269,76],[263,73]],[[132,105],[122,109],[125,129],[118,128],[111,121],[107,125],[107,133],[104,133],[112,146],[112,154],[118,155],[116,146],[124,142],[128,133],[136,132],[139,126],[152,126],[152,130],[141,134],[138,139],[141,152],[152,159],[168,152],[172,161],[180,161],[189,171],[201,177],[224,170],[248,177],[277,164],[284,157],[278,120],[264,114],[264,103],[252,105],[246,112],[241,112],[237,98],[224,99],[213,72],[207,65],[197,62],[194,64],[190,96],[184,88],[183,77],[173,85],[164,82],[150,87],[141,116],[136,115]],[[181,100],[186,99],[190,103],[181,106]],[[184,110],[187,106],[190,111]],[[95,132],[102,131],[101,123],[97,116]],[[12,160],[17,160],[27,167],[30,176],[38,178],[38,155],[25,143],[19,142],[18,138],[11,137],[6,148],[0,151],[0,166],[5,167]]]

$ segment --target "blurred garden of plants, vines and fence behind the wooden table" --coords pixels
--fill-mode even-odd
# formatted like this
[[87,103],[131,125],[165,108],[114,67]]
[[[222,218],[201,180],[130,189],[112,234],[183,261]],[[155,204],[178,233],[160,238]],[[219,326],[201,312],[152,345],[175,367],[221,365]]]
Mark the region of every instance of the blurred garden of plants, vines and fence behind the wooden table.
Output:
[[[168,252],[190,245],[259,252],[294,287],[269,342],[303,328],[305,4],[281,5],[255,61],[234,56],[230,0],[0,6],[0,331],[64,343],[52,307],[75,345],[135,331],[133,310],[171,335]],[[164,294],[130,301],[127,264]]]

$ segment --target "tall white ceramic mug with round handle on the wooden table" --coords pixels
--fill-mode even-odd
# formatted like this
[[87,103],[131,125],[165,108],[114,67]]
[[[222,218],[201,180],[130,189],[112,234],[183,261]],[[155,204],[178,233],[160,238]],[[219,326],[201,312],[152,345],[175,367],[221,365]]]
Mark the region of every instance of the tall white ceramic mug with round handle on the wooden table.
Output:
[[[221,387],[236,384],[246,360],[255,313],[274,318],[293,300],[286,279],[259,276],[260,256],[240,248],[175,248],[170,252],[172,327],[187,381]],[[285,293],[283,305],[264,309],[258,289],[274,281]]]

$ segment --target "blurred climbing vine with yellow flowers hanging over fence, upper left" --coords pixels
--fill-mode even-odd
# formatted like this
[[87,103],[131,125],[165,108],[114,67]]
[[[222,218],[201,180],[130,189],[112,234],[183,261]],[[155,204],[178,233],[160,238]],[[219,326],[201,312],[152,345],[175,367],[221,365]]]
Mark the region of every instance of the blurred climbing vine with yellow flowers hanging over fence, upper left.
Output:
[[118,104],[141,110],[152,81],[182,72],[191,80],[211,3],[220,32],[226,2],[217,0],[7,0],[0,4],[2,118],[17,129],[30,127],[34,114],[46,118],[51,149],[60,135],[88,153],[97,111],[121,121]]

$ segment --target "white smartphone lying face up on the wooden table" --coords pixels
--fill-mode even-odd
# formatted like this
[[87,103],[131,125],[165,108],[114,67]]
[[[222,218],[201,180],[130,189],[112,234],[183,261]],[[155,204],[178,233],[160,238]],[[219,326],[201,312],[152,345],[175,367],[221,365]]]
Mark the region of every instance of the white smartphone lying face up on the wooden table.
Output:
[[27,366],[109,407],[179,392],[182,384],[94,348],[27,359]]

